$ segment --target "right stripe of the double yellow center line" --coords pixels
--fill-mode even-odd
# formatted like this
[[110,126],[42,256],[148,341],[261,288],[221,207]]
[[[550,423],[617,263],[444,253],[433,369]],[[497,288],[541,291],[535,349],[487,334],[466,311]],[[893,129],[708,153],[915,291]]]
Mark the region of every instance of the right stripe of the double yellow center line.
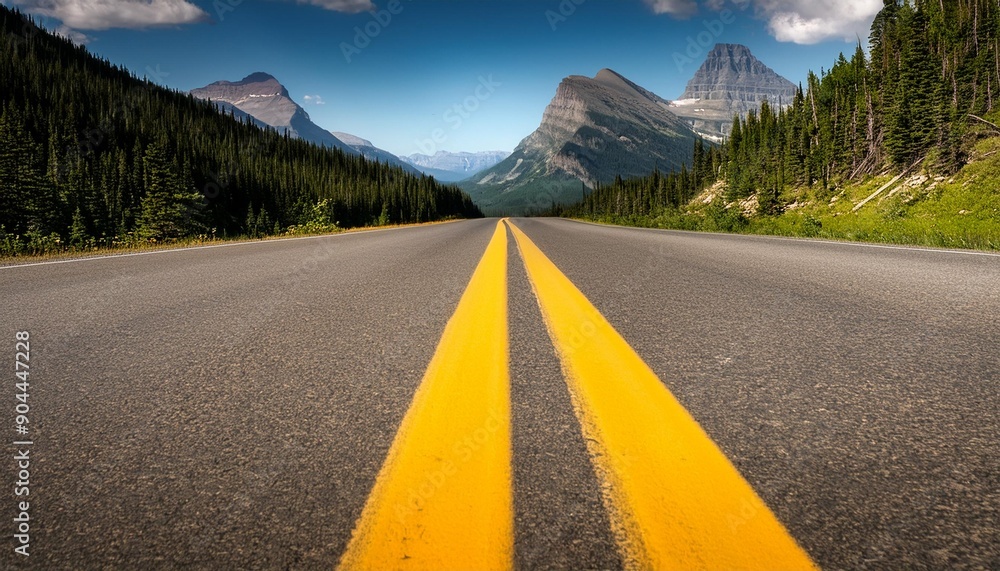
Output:
[[633,569],[816,569],[711,438],[513,223]]

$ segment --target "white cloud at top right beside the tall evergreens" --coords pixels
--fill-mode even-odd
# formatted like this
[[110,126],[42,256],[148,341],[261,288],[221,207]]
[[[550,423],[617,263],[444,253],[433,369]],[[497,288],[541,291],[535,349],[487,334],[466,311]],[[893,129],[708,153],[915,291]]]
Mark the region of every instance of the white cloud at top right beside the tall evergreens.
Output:
[[698,4],[710,12],[728,8],[740,14],[753,7],[753,17],[767,22],[768,32],[781,42],[815,44],[868,37],[882,0],[644,0],[657,14],[688,18]]

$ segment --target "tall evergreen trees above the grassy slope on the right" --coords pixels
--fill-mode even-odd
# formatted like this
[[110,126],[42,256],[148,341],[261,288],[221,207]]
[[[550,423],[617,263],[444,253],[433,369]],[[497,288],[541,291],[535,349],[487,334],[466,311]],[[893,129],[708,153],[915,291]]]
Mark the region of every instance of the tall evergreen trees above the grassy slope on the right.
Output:
[[[829,71],[809,74],[787,107],[766,102],[736,117],[709,176],[675,173],[692,197],[715,177],[730,201],[757,196],[762,214],[783,210],[788,188],[820,194],[838,184],[921,163],[949,174],[967,159],[972,126],[1000,104],[998,0],[884,0],[869,38]],[[716,164],[714,161],[718,161]],[[698,170],[697,167],[695,170]],[[588,215],[649,215],[673,205],[670,177],[602,188]],[[650,193],[653,193],[652,195]],[[653,196],[653,199],[650,199]]]

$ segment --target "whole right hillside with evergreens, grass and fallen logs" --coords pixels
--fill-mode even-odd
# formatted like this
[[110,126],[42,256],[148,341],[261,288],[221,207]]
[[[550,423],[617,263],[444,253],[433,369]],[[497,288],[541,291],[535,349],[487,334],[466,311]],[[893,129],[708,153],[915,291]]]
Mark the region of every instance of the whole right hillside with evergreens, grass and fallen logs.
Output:
[[672,175],[676,200],[647,198],[663,192],[653,175],[602,187],[569,212],[997,248],[1000,5],[889,3],[870,41],[870,57],[859,46],[850,60],[841,55],[822,76],[810,74],[789,107],[765,103],[735,120],[716,168]]

